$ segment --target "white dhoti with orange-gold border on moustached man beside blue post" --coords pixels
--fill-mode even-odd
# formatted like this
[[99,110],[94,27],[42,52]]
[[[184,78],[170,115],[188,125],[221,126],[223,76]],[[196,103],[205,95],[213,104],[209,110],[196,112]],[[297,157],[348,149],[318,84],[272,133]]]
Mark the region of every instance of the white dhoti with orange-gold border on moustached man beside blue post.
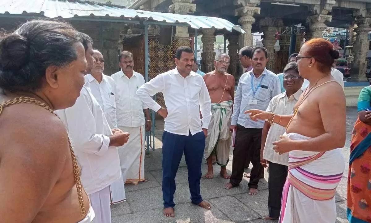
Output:
[[144,181],[144,145],[145,127],[118,126],[124,132],[130,133],[129,140],[118,147],[122,176],[125,183],[138,184]]

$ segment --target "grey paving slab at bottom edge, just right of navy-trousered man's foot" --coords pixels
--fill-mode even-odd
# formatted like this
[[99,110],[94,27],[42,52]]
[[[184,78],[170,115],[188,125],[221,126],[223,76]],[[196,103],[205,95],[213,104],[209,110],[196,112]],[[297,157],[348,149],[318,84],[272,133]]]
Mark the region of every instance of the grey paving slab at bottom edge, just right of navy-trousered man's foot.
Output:
[[210,203],[223,212],[233,222],[247,222],[261,218],[259,214],[245,206],[235,197],[218,197],[211,199]]

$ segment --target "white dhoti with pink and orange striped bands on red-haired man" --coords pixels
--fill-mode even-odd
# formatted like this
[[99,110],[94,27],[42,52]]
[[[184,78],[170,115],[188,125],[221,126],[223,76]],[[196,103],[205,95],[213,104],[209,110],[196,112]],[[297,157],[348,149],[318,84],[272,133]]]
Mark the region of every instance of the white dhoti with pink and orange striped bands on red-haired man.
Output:
[[[292,140],[311,139],[289,133]],[[282,191],[279,223],[334,223],[335,192],[344,171],[340,149],[289,152],[289,172]]]

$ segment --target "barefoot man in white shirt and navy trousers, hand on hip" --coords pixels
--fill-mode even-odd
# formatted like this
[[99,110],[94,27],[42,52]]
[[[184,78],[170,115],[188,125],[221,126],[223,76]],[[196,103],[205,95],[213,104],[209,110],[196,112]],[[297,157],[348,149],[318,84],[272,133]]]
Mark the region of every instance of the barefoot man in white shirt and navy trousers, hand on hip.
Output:
[[[165,119],[162,135],[162,195],[164,216],[167,217],[174,217],[175,175],[183,153],[188,167],[192,203],[205,209],[211,207],[200,194],[201,163],[211,119],[211,100],[203,78],[192,71],[193,54],[191,48],[180,47],[175,53],[177,67],[157,75],[137,91],[139,98]],[[167,109],[151,98],[159,92],[164,94]]]

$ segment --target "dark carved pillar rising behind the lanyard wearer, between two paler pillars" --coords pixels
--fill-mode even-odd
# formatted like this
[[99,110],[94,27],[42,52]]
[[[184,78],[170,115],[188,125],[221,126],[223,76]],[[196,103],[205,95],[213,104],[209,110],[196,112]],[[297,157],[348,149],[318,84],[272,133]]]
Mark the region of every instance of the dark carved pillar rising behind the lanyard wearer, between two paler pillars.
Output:
[[263,45],[268,51],[268,62],[266,68],[270,71],[274,71],[273,65],[276,61],[275,55],[275,43],[276,43],[276,32],[281,31],[283,21],[281,18],[269,18],[266,17],[260,20],[260,28],[264,33]]

